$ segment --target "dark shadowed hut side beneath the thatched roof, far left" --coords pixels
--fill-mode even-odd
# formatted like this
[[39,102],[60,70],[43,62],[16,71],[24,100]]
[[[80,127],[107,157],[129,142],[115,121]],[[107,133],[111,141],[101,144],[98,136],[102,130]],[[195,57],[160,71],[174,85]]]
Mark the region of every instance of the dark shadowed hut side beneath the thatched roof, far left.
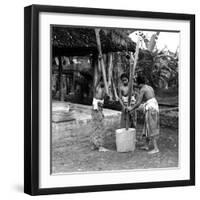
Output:
[[[58,57],[52,63],[52,98],[73,100],[73,98],[91,98],[92,65],[90,57]],[[90,88],[91,87],[91,88]]]

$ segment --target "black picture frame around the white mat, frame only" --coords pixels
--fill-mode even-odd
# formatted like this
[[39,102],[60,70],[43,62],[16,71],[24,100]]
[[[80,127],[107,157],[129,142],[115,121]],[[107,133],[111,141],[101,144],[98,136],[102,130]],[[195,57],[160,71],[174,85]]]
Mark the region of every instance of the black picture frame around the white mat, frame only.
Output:
[[[188,180],[39,188],[39,13],[188,20],[190,23],[190,178]],[[30,195],[195,185],[195,15],[31,5],[24,9],[24,192]]]

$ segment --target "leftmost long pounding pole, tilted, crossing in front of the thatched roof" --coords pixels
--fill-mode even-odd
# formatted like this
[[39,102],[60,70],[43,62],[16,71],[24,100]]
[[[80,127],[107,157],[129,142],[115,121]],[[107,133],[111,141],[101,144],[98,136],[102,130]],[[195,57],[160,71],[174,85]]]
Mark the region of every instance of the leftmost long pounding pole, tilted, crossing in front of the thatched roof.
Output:
[[98,52],[99,52],[99,62],[100,62],[101,69],[102,69],[102,74],[103,74],[103,80],[104,80],[106,94],[108,95],[109,91],[108,91],[108,84],[107,84],[107,78],[106,78],[106,70],[105,70],[105,65],[104,65],[104,61],[103,61],[103,55],[102,55],[101,41],[100,41],[99,32],[100,32],[100,29],[95,28],[95,35],[96,35],[96,41],[97,41],[97,49],[98,49]]

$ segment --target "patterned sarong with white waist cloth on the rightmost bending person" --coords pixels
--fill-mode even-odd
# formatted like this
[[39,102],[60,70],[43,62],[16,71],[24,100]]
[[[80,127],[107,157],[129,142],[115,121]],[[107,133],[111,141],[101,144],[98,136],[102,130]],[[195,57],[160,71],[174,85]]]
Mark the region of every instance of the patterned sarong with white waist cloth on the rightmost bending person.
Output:
[[149,99],[144,104],[145,125],[144,133],[146,137],[154,137],[160,134],[159,108],[155,98]]

